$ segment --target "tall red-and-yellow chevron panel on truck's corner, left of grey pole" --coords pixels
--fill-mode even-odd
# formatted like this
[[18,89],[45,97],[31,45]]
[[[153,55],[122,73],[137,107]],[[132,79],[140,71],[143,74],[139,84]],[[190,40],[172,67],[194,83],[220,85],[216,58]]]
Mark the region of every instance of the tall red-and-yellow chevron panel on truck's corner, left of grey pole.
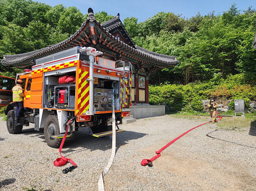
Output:
[[83,115],[89,109],[89,72],[79,69],[78,77],[78,109],[75,115]]

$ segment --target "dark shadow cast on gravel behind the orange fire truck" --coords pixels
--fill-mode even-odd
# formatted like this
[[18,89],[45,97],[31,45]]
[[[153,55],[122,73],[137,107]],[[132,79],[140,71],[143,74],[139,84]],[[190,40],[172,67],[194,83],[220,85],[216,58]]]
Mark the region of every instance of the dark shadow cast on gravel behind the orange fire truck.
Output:
[[[101,150],[106,151],[108,149],[111,149],[112,147],[112,139],[110,138],[96,138],[93,136],[89,136],[89,131],[84,131],[88,129],[83,129],[83,131],[76,132],[76,138],[74,140],[69,140],[65,142],[63,148],[69,148],[67,151],[61,151],[62,153],[79,153],[84,150]],[[147,134],[145,133],[137,133],[134,131],[124,131],[122,133],[117,134],[117,142],[116,142],[116,151],[119,149],[119,147],[128,144],[130,140],[135,140],[138,138],[142,138]],[[80,149],[76,149],[76,148]],[[74,150],[76,149],[76,150]],[[70,153],[71,154],[71,153]],[[68,156],[68,155],[66,155]]]

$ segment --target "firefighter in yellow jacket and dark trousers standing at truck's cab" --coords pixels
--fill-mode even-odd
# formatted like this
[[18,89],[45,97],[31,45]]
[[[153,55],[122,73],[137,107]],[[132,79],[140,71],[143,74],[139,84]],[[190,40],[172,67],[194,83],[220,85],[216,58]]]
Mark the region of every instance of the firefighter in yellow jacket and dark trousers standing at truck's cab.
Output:
[[13,102],[16,103],[16,112],[15,112],[16,117],[20,117],[20,111],[22,111],[22,109],[23,109],[24,93],[23,93],[22,83],[23,83],[22,80],[20,80],[20,79],[17,80],[16,85],[12,89]]

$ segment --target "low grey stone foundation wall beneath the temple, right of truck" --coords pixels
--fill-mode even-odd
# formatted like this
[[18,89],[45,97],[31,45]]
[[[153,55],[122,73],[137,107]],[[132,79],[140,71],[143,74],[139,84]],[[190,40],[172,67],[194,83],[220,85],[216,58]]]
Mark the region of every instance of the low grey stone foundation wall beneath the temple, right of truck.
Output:
[[132,106],[130,115],[133,115],[136,119],[165,115],[165,106]]

